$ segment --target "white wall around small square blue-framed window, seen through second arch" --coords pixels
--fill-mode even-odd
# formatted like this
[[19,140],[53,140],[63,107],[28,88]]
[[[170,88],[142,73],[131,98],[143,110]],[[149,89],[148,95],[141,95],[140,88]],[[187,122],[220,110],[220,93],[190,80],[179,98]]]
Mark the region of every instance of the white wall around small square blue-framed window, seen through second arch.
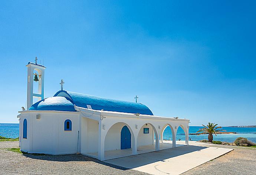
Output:
[[[144,128],[149,128],[150,133],[144,134]],[[143,125],[138,134],[137,146],[152,145],[152,131],[153,128],[151,125]]]

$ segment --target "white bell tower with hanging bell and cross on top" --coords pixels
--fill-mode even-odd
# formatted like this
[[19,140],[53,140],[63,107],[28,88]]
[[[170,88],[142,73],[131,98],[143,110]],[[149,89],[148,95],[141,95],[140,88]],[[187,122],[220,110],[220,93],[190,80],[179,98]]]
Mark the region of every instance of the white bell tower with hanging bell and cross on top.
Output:
[[29,62],[26,65],[27,67],[27,110],[30,108],[30,106],[33,105],[34,98],[37,101],[43,99],[46,67],[43,65],[37,64],[37,57],[35,61],[36,63]]

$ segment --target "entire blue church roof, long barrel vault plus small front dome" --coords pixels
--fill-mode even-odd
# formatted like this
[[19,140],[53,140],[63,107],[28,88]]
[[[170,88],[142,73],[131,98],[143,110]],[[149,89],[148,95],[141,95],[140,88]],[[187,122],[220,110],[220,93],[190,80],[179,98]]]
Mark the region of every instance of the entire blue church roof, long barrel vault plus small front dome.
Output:
[[141,103],[101,98],[65,90],[60,90],[53,97],[35,103],[29,110],[76,111],[74,105],[82,108],[88,108],[87,105],[90,105],[94,110],[103,109],[105,111],[153,115],[151,110]]

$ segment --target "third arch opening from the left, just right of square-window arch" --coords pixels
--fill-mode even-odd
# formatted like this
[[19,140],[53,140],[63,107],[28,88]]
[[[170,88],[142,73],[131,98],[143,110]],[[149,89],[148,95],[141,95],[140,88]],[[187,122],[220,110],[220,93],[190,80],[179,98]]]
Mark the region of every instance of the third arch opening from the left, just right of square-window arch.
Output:
[[[175,132],[174,132],[173,126],[171,126],[170,124],[164,125],[161,131],[160,139],[161,139],[160,148],[175,147],[176,142],[175,142]],[[166,143],[168,143],[168,145]]]

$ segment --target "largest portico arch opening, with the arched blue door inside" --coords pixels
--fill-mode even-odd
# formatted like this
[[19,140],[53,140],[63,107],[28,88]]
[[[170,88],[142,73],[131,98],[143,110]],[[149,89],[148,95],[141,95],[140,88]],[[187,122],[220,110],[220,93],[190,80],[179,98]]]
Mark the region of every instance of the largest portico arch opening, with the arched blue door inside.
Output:
[[105,159],[116,158],[117,152],[119,157],[132,155],[133,143],[134,133],[131,127],[124,122],[115,123],[109,128],[104,139]]

